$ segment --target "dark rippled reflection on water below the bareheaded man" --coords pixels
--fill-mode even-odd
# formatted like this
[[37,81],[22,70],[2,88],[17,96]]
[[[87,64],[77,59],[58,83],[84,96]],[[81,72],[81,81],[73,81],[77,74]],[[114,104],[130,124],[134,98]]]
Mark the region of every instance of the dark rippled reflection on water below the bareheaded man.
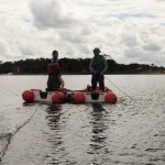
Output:
[[46,163],[61,164],[62,157],[65,154],[65,147],[63,146],[63,125],[61,124],[62,106],[52,105],[46,109],[47,125],[51,129],[47,142],[51,143],[51,152],[46,156]]

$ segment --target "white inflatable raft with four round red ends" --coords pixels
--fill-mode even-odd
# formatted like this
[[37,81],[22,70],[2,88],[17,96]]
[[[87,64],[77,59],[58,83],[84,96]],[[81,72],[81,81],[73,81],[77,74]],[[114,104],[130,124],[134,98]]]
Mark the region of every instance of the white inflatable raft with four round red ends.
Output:
[[56,91],[43,91],[41,89],[29,89],[22,92],[22,98],[25,102],[41,102],[41,103],[116,103],[117,96],[109,88],[105,87],[105,91],[92,90],[87,87],[82,90],[67,90],[59,89]]

